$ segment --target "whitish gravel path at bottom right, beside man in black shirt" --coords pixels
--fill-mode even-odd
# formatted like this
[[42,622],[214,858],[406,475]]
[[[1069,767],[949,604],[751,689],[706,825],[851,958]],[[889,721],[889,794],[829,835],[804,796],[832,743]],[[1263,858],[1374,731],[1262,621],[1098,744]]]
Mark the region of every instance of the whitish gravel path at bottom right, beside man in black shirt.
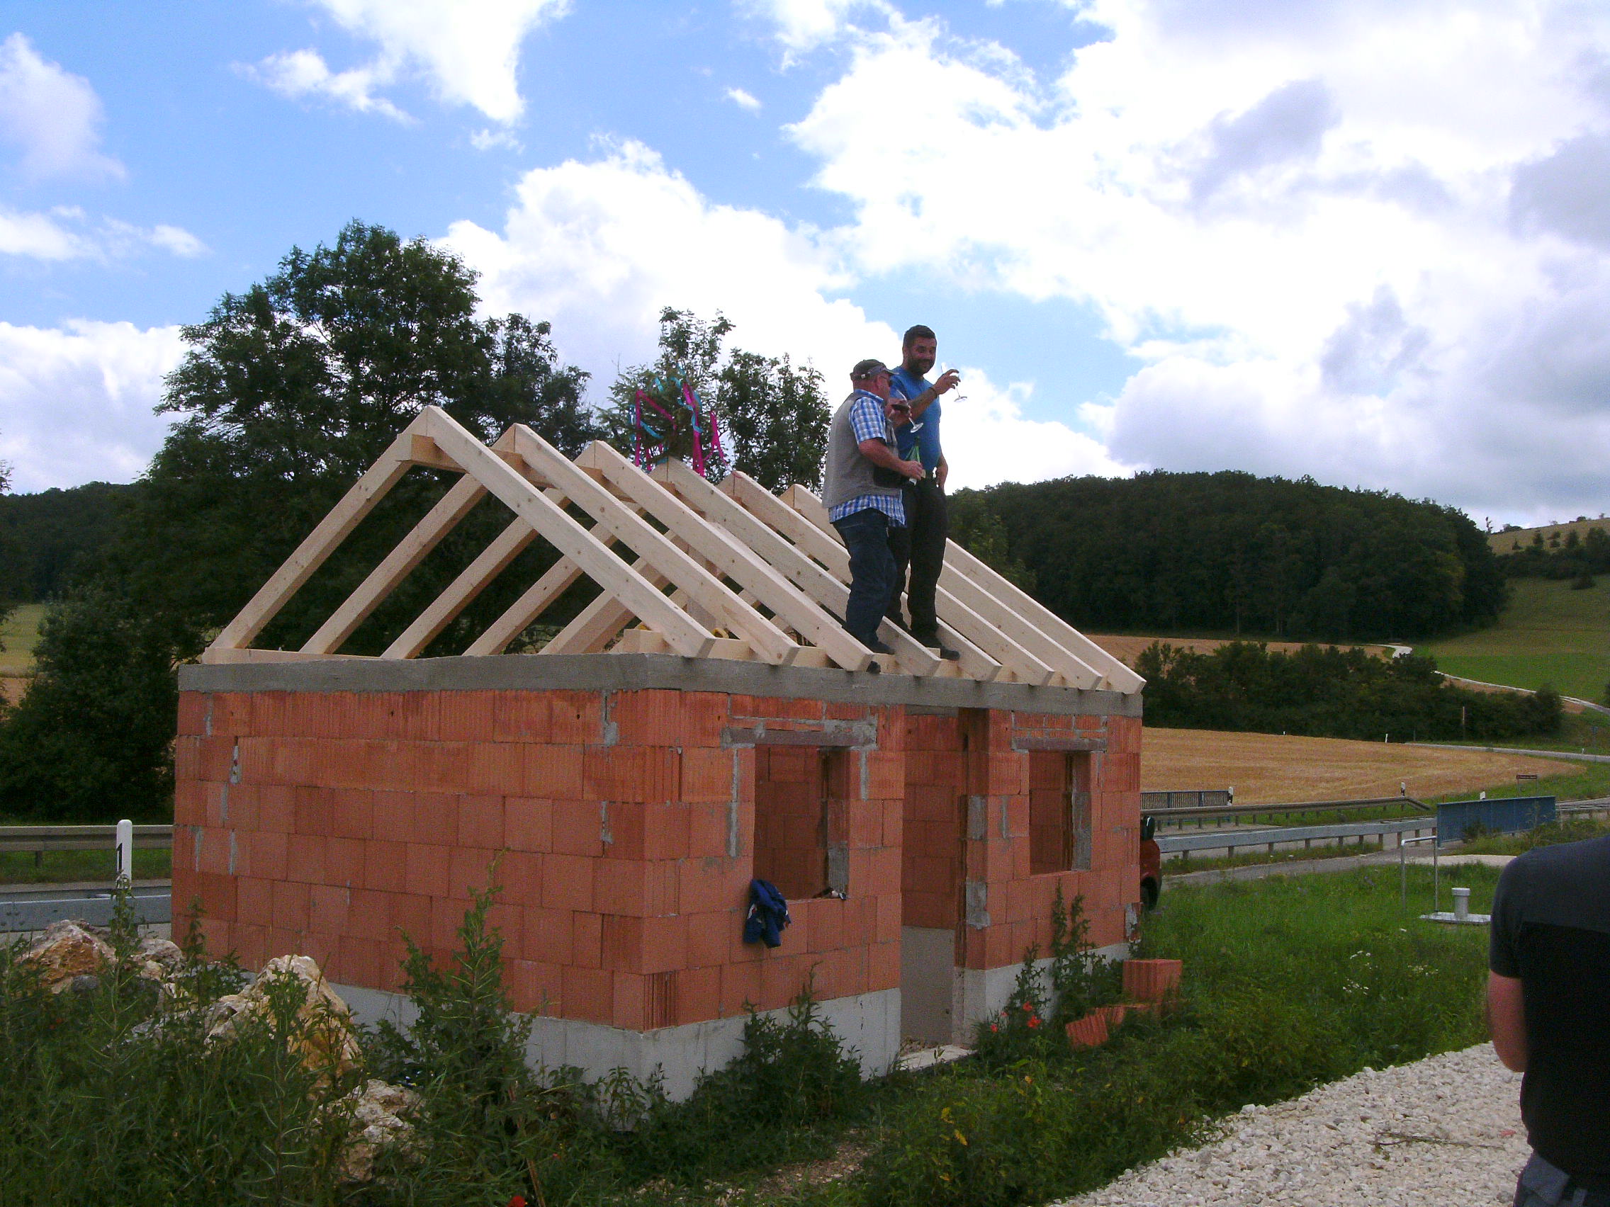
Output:
[[1064,1207],[1391,1204],[1496,1207],[1526,1164],[1520,1073],[1481,1043],[1248,1106],[1204,1147],[1174,1152]]

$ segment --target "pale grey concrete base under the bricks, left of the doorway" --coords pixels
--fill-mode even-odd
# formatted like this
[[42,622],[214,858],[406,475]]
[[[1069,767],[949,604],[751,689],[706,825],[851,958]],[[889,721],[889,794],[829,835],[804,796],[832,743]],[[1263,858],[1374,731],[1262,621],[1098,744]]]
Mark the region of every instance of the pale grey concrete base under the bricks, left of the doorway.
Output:
[[[370,990],[359,985],[330,985],[351,1006],[359,1022],[374,1025],[380,1019],[406,1027],[417,1011],[401,993]],[[863,1077],[889,1072],[900,1053],[900,990],[877,990],[848,998],[818,1003],[823,1022],[861,1065]],[[787,1009],[762,1011],[784,1022]],[[597,1080],[615,1069],[625,1069],[639,1080],[655,1069],[665,1075],[665,1093],[673,1101],[686,1099],[699,1077],[724,1069],[744,1049],[747,1015],[662,1027],[654,1032],[630,1032],[578,1019],[531,1017],[531,1040],[526,1061],[535,1067],[580,1069]]]

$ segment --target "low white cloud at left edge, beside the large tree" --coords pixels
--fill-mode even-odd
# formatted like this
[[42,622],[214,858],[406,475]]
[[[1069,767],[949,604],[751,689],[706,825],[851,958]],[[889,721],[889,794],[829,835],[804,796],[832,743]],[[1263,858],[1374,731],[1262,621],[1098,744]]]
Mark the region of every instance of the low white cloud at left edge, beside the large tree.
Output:
[[0,460],[11,489],[130,481],[167,433],[153,414],[179,364],[177,327],[0,322]]

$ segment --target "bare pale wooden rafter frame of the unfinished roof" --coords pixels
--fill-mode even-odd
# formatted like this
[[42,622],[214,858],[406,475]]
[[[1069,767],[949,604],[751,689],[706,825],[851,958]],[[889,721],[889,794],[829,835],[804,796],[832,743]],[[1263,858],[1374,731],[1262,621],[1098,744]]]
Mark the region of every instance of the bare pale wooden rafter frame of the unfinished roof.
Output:
[[[251,642],[414,467],[464,476],[414,525],[298,650]],[[525,425],[491,446],[438,407],[425,407],[217,634],[203,661],[343,658],[341,645],[483,499],[509,525],[399,632],[383,660],[419,657],[535,541],[559,560],[480,632],[465,655],[502,653],[578,578],[599,595],[541,653],[662,652],[749,658],[778,666],[881,669],[1061,687],[1140,690],[1100,650],[952,544],[940,579],[940,634],[961,652],[943,661],[889,623],[874,655],[840,624],[848,555],[816,496],[773,496],[742,473],[712,486],[671,460],[644,473],[607,444],[575,460]],[[588,517],[586,528],[575,513]]]

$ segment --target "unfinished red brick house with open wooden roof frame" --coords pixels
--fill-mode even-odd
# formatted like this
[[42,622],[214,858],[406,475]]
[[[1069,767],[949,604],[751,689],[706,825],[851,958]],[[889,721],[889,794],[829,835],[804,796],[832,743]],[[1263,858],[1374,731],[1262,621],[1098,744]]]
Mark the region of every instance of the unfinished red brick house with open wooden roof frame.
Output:
[[[251,649],[412,467],[462,478],[301,649]],[[488,496],[504,534],[385,655],[341,655]],[[462,655],[419,657],[533,541],[559,562]],[[539,653],[502,652],[581,576],[597,597]],[[394,1014],[402,933],[448,953],[496,858],[536,1061],[660,1067],[679,1096],[807,983],[869,1072],[963,1041],[1058,888],[1100,948],[1127,940],[1141,681],[955,544],[960,661],[889,624],[873,655],[836,620],[847,581],[808,491],[568,460],[525,426],[488,447],[425,409],[180,674],[175,911]],[[789,898],[778,948],[742,941],[752,877]]]

